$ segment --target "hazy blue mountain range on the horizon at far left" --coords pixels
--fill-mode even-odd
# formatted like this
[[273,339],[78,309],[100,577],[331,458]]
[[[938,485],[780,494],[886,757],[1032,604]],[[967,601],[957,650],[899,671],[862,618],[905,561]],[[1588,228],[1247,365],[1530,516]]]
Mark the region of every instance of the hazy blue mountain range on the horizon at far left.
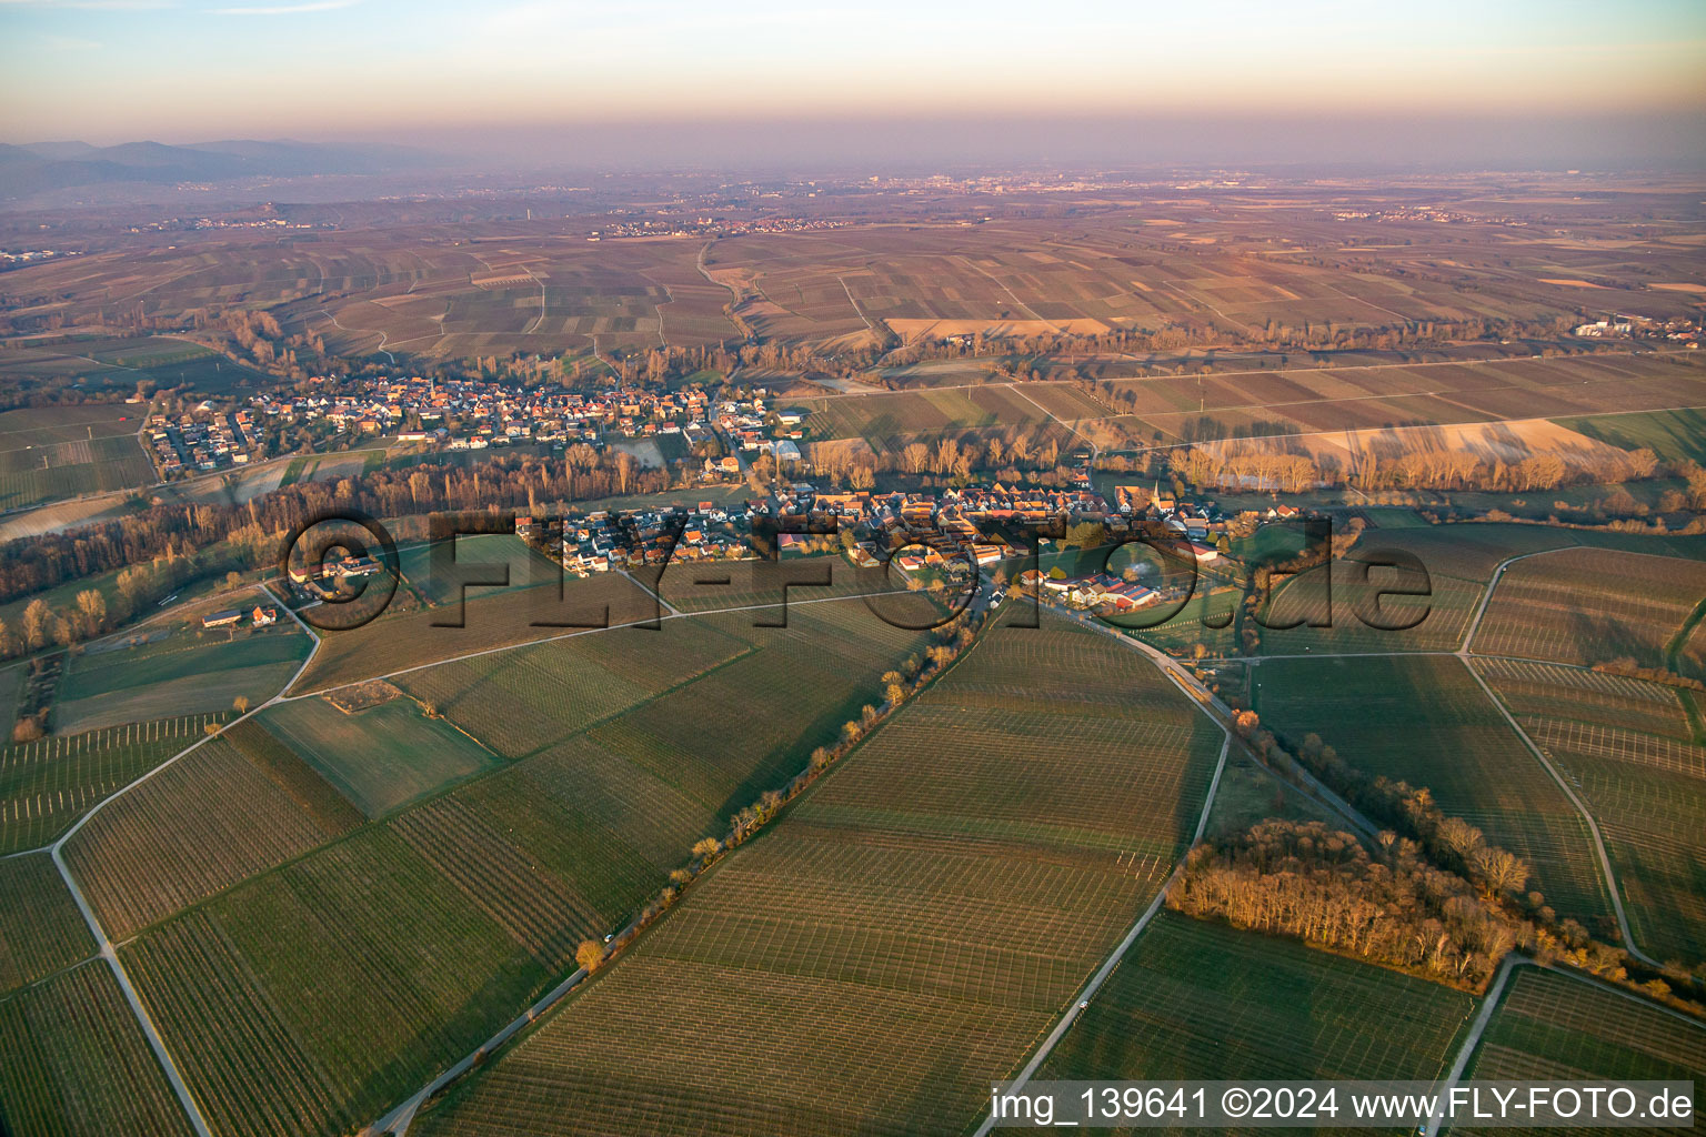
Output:
[[288,138],[200,141],[188,147],[159,141],[126,141],[116,147],[90,147],[87,141],[34,141],[22,147],[0,143],[0,198],[32,198],[118,182],[174,186],[244,177],[387,174],[430,165],[432,157],[408,147],[322,147]]

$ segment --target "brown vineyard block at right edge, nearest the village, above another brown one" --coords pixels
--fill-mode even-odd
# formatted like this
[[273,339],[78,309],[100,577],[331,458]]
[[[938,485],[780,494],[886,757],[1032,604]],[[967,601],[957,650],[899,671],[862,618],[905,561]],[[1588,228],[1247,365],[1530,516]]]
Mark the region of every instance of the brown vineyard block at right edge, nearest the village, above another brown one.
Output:
[[[1471,649],[1590,665],[1668,667],[1672,643],[1706,602],[1706,559],[1566,549],[1501,574]],[[1697,663],[1691,660],[1689,663]],[[1701,678],[1699,667],[1689,667]]]

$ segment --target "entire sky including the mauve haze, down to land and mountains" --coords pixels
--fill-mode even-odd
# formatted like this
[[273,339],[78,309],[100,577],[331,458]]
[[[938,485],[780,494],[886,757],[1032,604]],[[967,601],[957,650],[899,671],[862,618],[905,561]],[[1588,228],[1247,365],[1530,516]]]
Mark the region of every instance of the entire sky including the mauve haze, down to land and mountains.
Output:
[[1585,0],[1426,15],[1339,0],[759,0],[708,15],[660,0],[643,19],[607,3],[0,0],[0,31],[14,143],[1706,164],[1706,7],[1691,0],[1614,15]]

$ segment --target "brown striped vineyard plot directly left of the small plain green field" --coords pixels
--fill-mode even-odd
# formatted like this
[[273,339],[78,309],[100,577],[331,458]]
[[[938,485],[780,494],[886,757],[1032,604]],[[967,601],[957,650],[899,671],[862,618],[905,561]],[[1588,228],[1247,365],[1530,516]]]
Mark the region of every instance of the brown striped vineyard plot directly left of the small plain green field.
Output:
[[[300,856],[351,820],[304,801],[264,740],[205,742],[92,817],[65,859],[114,939]],[[259,757],[251,752],[263,750]]]

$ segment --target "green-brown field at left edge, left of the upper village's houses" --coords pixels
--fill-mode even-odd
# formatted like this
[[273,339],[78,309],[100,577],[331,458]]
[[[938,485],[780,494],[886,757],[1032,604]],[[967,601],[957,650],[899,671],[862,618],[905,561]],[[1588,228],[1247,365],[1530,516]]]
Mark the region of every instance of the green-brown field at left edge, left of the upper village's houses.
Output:
[[0,413],[0,510],[154,482],[154,464],[136,442],[145,413],[123,406]]

